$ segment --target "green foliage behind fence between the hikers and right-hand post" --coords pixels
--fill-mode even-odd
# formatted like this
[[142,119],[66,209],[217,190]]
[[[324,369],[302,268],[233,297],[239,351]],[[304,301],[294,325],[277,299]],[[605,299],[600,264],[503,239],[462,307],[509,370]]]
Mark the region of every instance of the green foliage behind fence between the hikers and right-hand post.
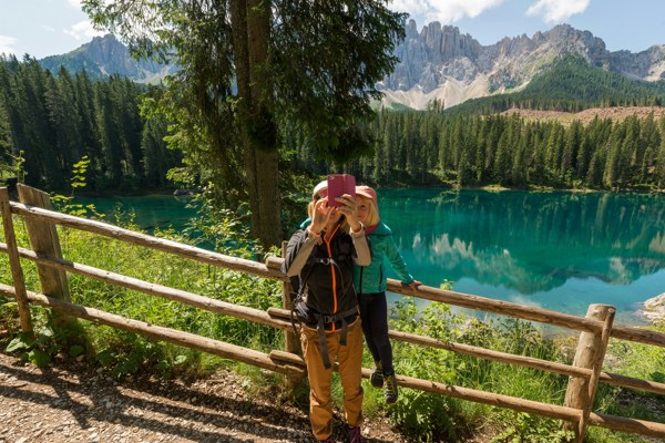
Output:
[[[499,324],[492,319],[480,321],[453,313],[443,303],[432,303],[419,311],[410,298],[396,303],[391,315],[391,328],[401,331],[540,359],[557,358],[553,343],[525,321],[511,319]],[[405,343],[393,343],[393,349],[398,373],[544,402],[563,400],[564,384],[552,374]],[[479,422],[503,427],[497,442],[555,442],[564,441],[567,435],[552,420],[522,414],[508,421],[513,414],[510,411],[408,389],[401,393],[388,412],[416,441],[457,441]],[[546,440],[548,436],[554,440]]]

